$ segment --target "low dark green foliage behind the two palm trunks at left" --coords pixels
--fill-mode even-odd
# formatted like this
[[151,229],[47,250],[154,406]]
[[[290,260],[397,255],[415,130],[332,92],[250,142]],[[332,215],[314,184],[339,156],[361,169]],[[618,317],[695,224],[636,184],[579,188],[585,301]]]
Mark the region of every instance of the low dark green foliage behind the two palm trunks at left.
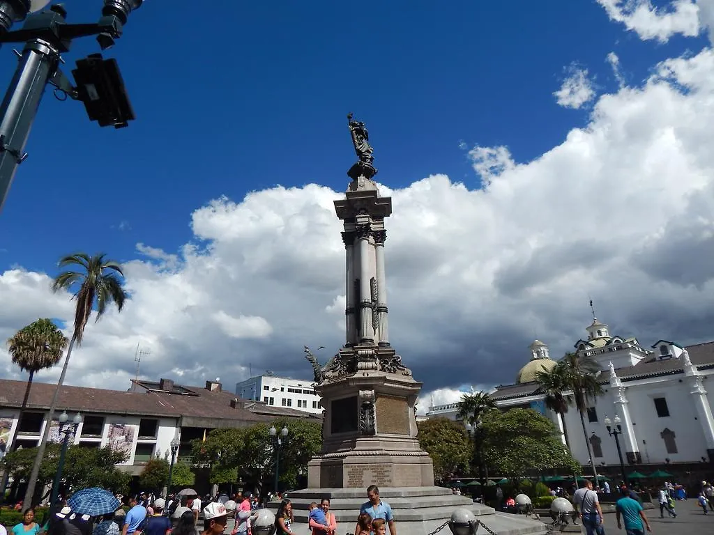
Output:
[[[16,479],[27,479],[34,468],[38,448],[24,448],[5,456],[8,472]],[[59,469],[61,444],[47,444],[36,483],[51,486]],[[114,492],[129,490],[131,476],[116,468],[116,464],[126,462],[126,455],[110,447],[88,448],[70,446],[67,449],[62,479],[76,489],[100,486]]]

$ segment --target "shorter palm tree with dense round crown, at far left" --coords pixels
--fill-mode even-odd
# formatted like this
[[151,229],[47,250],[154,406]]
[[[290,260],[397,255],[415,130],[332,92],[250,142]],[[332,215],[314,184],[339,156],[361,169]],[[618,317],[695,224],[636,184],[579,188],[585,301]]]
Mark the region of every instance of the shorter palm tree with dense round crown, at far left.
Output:
[[[69,342],[67,337],[47,318],[41,318],[30,325],[22,327],[7,341],[12,362],[18,365],[23,372],[29,372],[30,374],[17,416],[18,422],[22,421],[22,415],[27,407],[27,399],[30,397],[30,388],[32,387],[34,375],[40,370],[56,365],[62,358],[67,342]],[[16,435],[17,432],[10,437],[6,448],[7,452],[12,451]],[[8,476],[9,473],[4,470],[0,483],[0,503],[5,497]]]

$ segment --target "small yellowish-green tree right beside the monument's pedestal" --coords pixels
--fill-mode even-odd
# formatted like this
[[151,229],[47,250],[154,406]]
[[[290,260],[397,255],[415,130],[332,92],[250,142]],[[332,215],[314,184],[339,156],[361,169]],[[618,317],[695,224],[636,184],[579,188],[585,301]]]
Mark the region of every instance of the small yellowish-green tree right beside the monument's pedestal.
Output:
[[430,418],[418,423],[419,445],[434,463],[434,477],[445,481],[463,472],[471,461],[471,441],[463,425],[448,418]]

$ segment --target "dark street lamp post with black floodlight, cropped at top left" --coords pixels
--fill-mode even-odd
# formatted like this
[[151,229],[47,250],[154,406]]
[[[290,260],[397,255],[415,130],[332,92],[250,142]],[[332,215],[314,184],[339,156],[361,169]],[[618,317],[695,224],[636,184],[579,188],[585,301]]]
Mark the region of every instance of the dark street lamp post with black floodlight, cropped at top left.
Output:
[[[69,51],[73,39],[96,35],[102,50],[114,45],[129,14],[139,9],[144,0],[104,0],[101,17],[94,24],[67,24],[67,12],[61,4],[40,11],[49,1],[0,0],[0,44],[25,45],[0,106],[0,209],[17,166],[27,158],[25,144],[48,83],[59,91],[55,94],[60,100],[69,96],[83,101],[92,120],[99,113],[114,116],[113,126],[126,126],[126,121],[134,118],[114,60],[102,61],[101,55],[92,55],[82,60],[84,63],[79,61],[73,71],[77,87],[72,86],[59,64],[61,54]],[[21,21],[25,21],[21,29],[10,31],[14,23]],[[101,120],[99,124],[105,126]]]

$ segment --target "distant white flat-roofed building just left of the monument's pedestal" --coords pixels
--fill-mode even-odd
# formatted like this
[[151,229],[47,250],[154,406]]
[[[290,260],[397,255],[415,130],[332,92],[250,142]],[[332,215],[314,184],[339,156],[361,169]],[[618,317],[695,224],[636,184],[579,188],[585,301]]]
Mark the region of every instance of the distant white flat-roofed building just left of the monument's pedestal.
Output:
[[256,375],[236,383],[236,396],[253,399],[268,406],[289,407],[310,414],[322,414],[321,397],[311,381]]

